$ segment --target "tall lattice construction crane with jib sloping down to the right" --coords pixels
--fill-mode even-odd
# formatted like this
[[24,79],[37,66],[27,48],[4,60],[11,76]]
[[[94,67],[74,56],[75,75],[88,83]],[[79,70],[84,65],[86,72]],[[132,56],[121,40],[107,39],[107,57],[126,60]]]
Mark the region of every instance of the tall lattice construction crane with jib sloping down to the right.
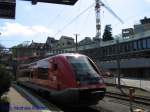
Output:
[[101,19],[100,19],[100,14],[101,14],[101,7],[105,7],[116,19],[118,19],[121,23],[123,21],[117,14],[113,12],[111,8],[106,6],[101,0],[95,0],[95,13],[96,13],[96,37],[95,39],[100,40],[101,38]]

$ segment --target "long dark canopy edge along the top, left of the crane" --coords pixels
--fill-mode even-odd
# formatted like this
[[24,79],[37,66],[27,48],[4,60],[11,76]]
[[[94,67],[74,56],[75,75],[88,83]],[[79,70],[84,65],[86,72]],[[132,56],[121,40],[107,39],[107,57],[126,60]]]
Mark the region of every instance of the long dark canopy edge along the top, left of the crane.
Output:
[[74,5],[78,0],[24,0],[24,1],[31,1],[32,4],[36,4],[37,2],[45,2],[64,5]]

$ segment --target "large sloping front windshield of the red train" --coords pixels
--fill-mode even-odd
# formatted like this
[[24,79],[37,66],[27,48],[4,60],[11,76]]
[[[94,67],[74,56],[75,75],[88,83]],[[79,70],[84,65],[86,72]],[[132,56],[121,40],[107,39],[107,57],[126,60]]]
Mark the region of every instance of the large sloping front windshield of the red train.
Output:
[[99,82],[100,75],[98,74],[98,71],[93,65],[93,63],[87,57],[69,56],[67,57],[67,59],[72,65],[77,81],[86,84]]

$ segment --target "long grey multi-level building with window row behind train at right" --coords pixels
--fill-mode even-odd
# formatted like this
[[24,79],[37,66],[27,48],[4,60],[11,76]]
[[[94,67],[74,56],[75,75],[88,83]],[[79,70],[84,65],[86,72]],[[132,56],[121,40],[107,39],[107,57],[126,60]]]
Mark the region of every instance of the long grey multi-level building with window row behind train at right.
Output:
[[[64,50],[73,52],[75,47]],[[120,68],[123,77],[150,79],[150,19],[145,17],[133,28],[123,29],[119,38],[78,45],[78,50],[114,75]]]

